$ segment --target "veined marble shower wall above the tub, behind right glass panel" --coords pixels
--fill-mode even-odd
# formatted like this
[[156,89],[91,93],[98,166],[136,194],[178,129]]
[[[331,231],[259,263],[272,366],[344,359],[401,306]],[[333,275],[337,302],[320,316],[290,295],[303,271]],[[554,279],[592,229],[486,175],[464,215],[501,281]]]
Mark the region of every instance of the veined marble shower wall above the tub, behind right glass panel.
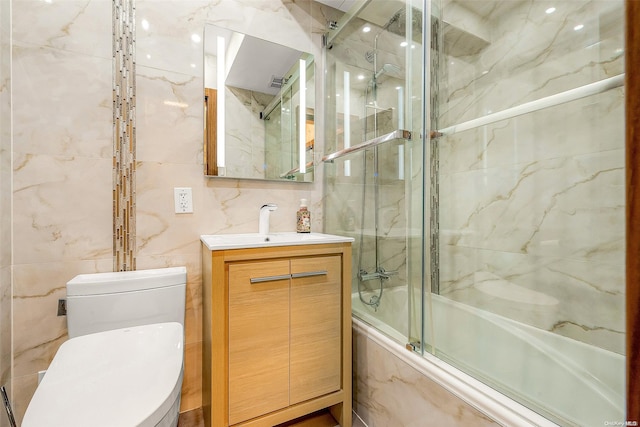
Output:
[[[478,19],[483,50],[443,61],[440,127],[623,71],[621,1],[507,6]],[[441,294],[623,353],[623,100],[614,89],[439,141]]]

